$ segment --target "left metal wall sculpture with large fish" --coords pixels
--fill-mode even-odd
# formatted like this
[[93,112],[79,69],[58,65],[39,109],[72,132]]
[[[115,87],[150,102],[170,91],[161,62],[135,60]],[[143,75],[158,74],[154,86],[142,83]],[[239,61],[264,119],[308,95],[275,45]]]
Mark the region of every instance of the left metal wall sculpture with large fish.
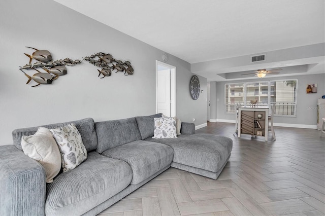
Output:
[[[32,47],[27,47],[36,50],[31,55],[24,53],[26,56],[29,57],[29,63],[25,64],[24,66],[20,67],[20,70],[25,74],[28,78],[26,84],[28,84],[31,80],[38,83],[35,86],[39,86],[41,84],[51,84],[53,80],[56,80],[59,76],[63,76],[67,74],[67,68],[65,65],[74,66],[76,64],[80,64],[82,61],[76,59],[72,60],[70,58],[65,58],[63,60],[55,60],[52,61],[52,55],[47,50],[38,50]],[[36,60],[36,62],[31,63],[32,60]],[[42,68],[46,71],[46,73],[42,73],[36,68]],[[24,69],[34,69],[37,71],[36,74],[29,76],[25,73]],[[35,87],[32,86],[32,87]]]

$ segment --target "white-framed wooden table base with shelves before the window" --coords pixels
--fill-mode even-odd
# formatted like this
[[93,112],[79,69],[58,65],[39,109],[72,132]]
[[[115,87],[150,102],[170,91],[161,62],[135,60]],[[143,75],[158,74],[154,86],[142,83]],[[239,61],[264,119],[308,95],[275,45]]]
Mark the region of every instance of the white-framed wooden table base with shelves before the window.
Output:
[[[262,115],[262,116],[261,116]],[[238,108],[238,137],[249,134],[253,137],[264,136],[268,141],[268,106],[241,106]]]

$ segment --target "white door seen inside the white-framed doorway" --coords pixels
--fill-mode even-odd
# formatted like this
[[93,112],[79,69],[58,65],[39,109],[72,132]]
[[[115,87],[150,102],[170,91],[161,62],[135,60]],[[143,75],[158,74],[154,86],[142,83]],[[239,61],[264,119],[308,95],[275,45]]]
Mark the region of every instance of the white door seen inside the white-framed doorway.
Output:
[[171,117],[170,69],[157,71],[157,113]]

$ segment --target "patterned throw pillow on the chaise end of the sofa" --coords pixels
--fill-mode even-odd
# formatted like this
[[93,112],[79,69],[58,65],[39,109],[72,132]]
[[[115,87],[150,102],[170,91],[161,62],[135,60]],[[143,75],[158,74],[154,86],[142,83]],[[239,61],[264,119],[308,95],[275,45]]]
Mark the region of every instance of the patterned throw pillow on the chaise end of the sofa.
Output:
[[152,138],[177,138],[175,119],[154,118],[154,131]]

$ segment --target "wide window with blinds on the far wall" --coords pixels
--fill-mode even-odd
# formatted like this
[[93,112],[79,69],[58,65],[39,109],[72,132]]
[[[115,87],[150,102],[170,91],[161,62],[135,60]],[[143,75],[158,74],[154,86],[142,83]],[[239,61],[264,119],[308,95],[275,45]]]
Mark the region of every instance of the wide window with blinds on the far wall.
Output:
[[296,117],[297,83],[293,79],[225,84],[225,113],[235,113],[235,103],[250,105],[251,100],[257,100],[261,105],[275,104],[276,116]]

